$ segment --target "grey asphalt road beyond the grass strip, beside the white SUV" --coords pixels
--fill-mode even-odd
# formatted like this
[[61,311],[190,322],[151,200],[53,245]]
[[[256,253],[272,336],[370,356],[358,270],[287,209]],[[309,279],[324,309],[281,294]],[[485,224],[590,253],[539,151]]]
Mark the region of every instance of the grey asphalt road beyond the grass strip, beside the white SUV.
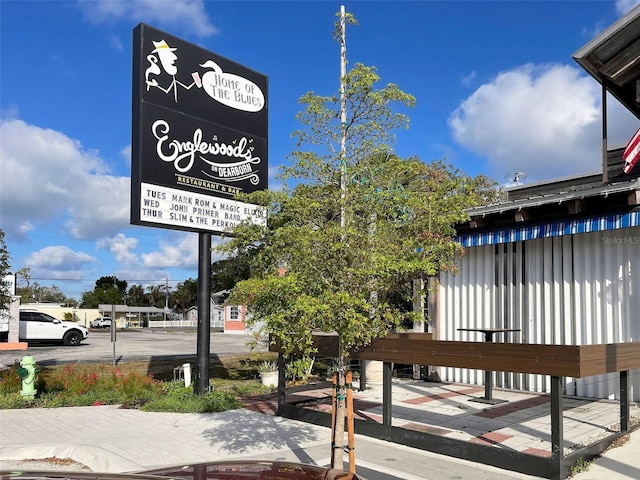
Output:
[[[251,335],[211,333],[210,354],[232,355],[249,352],[247,342]],[[115,355],[114,355],[115,345]],[[261,347],[260,350],[265,350]],[[117,331],[115,344],[111,342],[109,330],[91,330],[89,337],[80,345],[29,345],[27,351],[2,352],[0,364],[9,365],[25,355],[32,355],[39,365],[86,362],[130,362],[137,360],[160,360],[163,358],[195,358],[197,334],[189,330],[130,330]]]

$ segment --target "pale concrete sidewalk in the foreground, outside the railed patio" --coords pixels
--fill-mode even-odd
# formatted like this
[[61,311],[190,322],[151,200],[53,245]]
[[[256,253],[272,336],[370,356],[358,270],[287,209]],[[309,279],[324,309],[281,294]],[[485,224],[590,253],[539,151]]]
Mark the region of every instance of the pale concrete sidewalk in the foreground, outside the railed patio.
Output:
[[[93,471],[128,472],[242,459],[330,462],[330,431],[273,415],[150,413],[117,406],[0,411],[0,468],[20,459],[70,458]],[[358,436],[368,480],[535,478]]]

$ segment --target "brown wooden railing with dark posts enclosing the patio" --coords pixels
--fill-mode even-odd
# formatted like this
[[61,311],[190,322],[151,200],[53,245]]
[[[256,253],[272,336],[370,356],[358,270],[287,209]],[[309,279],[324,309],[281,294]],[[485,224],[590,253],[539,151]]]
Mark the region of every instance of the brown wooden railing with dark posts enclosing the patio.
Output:
[[[337,335],[314,336],[318,356],[335,357],[340,351]],[[278,345],[269,349],[282,353]],[[570,473],[578,459],[588,460],[600,454],[613,441],[630,431],[629,371],[640,368],[640,342],[600,345],[537,345],[524,343],[487,343],[433,340],[425,333],[392,333],[371,345],[351,352],[359,360],[383,362],[383,421],[376,426],[356,422],[356,431],[409,446],[423,448],[467,460],[488,463],[530,475],[559,480]],[[417,364],[455,368],[516,372],[550,376],[551,445],[550,458],[517,452],[504,452],[460,440],[447,440],[425,432],[403,432],[393,427],[391,405],[391,364]],[[313,423],[323,424],[315,413],[287,405],[284,388],[284,361],[280,355],[281,382],[278,390],[278,413]],[[593,445],[565,455],[563,449],[563,377],[585,378],[607,373],[619,374],[620,431]],[[490,453],[490,455],[488,455]]]

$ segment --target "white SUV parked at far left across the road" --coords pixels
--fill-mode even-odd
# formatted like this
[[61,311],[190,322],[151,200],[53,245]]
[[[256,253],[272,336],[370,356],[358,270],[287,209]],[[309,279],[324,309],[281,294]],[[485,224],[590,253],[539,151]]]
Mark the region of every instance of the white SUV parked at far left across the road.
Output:
[[75,346],[89,336],[89,330],[36,310],[20,310],[19,336],[21,342],[60,342]]

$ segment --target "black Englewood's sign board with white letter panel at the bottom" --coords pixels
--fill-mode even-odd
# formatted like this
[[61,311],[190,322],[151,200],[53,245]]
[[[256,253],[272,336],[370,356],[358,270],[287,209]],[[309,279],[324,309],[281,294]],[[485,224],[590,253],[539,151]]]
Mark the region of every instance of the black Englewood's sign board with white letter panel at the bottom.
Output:
[[144,24],[133,46],[131,223],[264,223],[234,198],[267,188],[267,77]]

